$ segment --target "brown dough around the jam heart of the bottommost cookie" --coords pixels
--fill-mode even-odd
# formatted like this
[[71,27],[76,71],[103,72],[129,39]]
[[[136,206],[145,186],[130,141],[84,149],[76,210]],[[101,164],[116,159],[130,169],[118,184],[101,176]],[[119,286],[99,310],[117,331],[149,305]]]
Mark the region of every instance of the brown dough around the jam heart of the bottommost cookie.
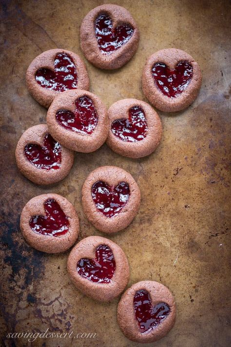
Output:
[[[164,302],[170,307],[169,315],[157,327],[146,333],[140,332],[134,311],[134,295],[140,289],[149,293],[153,306]],[[125,291],[117,307],[117,322],[123,334],[130,340],[139,343],[152,343],[164,337],[172,329],[175,317],[176,307],[173,294],[166,286],[154,281],[135,283]]]

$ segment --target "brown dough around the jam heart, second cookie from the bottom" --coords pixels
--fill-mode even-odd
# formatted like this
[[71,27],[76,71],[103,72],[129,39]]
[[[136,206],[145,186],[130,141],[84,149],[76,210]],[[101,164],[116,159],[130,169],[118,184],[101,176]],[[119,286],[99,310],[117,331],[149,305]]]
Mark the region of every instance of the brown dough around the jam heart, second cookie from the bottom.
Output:
[[[109,246],[114,254],[116,270],[110,283],[96,283],[82,277],[77,272],[77,262],[81,258],[95,259],[99,245]],[[129,280],[128,260],[123,250],[111,240],[100,236],[89,236],[81,240],[70,252],[67,271],[73,284],[87,296],[102,302],[113,300],[127,286]]]

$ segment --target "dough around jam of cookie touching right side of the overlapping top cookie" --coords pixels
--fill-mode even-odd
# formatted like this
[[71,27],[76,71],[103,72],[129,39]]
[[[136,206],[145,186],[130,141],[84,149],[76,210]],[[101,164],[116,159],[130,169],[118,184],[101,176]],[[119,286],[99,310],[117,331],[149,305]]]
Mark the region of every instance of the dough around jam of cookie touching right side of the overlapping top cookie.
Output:
[[[146,122],[147,122],[147,135],[141,141],[127,142],[119,139],[113,134],[111,126],[112,123],[121,118],[129,117],[129,109],[139,106],[143,109]],[[120,155],[129,158],[141,158],[151,154],[162,137],[162,124],[160,118],[148,103],[136,100],[136,99],[123,99],[115,102],[108,109],[109,118],[109,135],[107,138],[107,144],[112,150]]]

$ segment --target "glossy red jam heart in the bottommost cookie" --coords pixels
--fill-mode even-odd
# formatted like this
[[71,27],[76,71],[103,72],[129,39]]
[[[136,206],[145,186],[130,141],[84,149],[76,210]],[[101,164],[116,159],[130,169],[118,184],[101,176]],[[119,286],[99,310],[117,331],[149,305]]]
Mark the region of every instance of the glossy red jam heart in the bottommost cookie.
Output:
[[156,327],[170,313],[170,307],[165,303],[152,306],[149,293],[143,289],[135,293],[133,304],[141,333]]

